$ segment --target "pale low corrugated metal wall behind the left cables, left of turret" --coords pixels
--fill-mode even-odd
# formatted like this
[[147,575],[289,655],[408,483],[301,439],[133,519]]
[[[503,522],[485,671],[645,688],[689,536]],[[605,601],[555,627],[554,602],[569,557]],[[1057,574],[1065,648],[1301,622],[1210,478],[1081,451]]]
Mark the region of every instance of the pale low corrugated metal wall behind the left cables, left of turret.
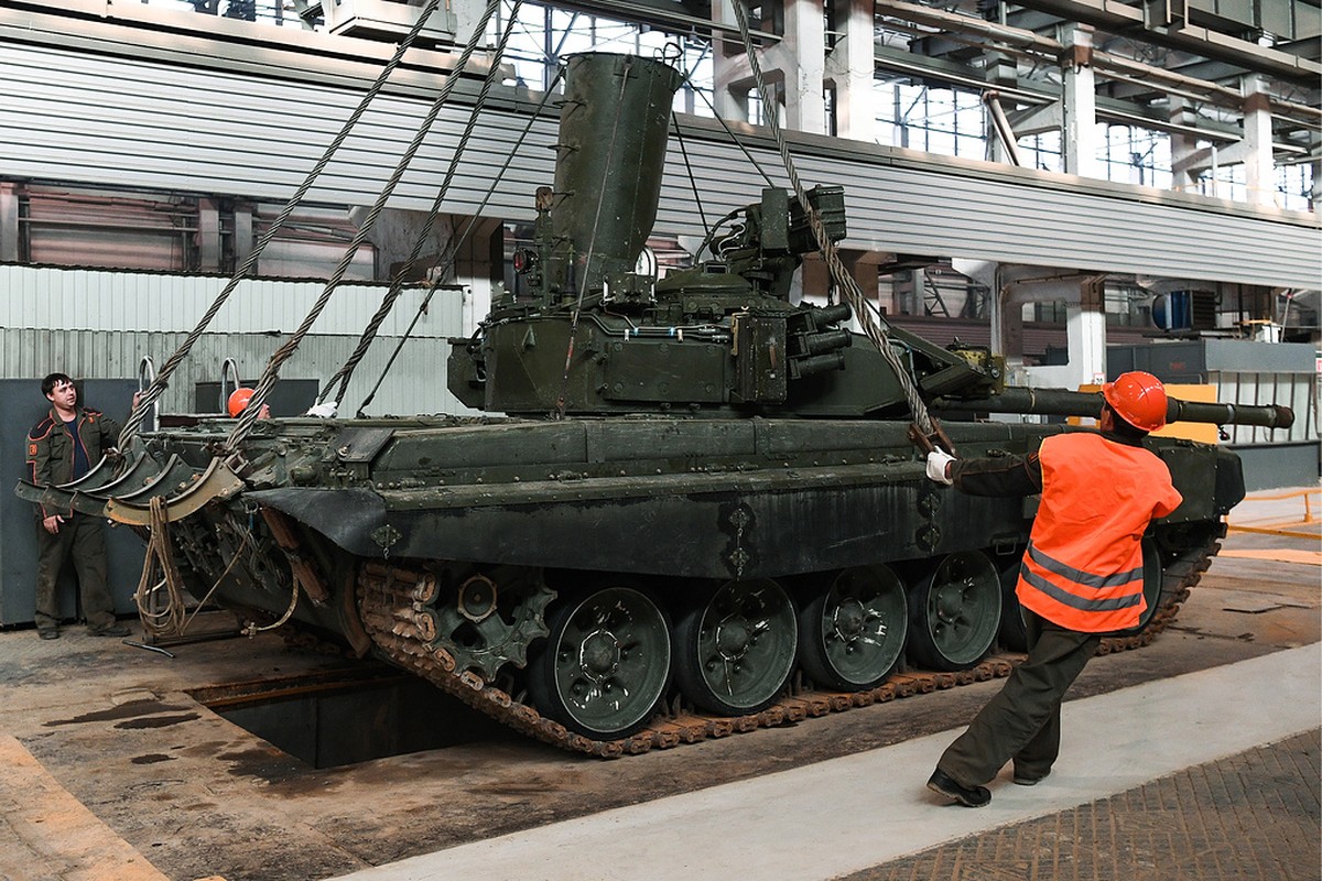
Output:
[[[223,287],[217,277],[0,265],[0,376],[44,376],[54,370],[89,379],[136,376],[144,355],[160,367]],[[255,380],[321,289],[317,283],[245,281],[180,366],[163,409],[192,412],[194,384],[218,382],[226,358],[235,359],[245,382]],[[353,351],[383,292],[379,285],[338,289],[280,376],[316,379],[324,387]],[[377,382],[422,296],[420,291],[401,296],[354,372],[349,407],[356,408]],[[442,291],[368,412],[467,412],[444,387],[451,335],[465,335],[463,295]]]

